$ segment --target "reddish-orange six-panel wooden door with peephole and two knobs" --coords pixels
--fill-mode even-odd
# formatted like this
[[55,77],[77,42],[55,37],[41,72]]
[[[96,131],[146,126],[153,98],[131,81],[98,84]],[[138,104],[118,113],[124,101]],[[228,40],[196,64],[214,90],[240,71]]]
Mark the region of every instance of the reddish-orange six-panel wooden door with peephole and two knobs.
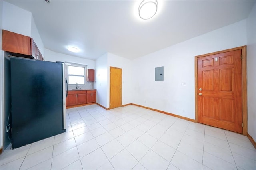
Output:
[[242,133],[241,50],[198,57],[198,122]]

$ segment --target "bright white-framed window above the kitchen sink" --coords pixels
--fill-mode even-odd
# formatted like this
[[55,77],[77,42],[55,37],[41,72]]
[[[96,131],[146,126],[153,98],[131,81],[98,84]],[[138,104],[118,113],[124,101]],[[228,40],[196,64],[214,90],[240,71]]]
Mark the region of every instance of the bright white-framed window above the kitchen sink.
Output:
[[85,67],[68,65],[68,84],[84,85],[85,84]]

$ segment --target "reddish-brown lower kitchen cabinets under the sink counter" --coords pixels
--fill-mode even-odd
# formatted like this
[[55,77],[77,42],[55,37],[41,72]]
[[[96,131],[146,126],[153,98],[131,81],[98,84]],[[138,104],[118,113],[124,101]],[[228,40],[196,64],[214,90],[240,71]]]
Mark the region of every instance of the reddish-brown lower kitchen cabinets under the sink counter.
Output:
[[70,90],[66,98],[66,107],[76,107],[96,102],[96,90]]

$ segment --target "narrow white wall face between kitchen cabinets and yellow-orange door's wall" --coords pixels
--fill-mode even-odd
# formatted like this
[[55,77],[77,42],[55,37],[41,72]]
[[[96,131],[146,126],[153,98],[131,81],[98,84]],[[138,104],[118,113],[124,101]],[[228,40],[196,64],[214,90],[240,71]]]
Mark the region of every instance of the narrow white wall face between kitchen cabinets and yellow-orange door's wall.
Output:
[[108,108],[108,53],[105,53],[95,61],[94,88],[97,89],[96,102]]

